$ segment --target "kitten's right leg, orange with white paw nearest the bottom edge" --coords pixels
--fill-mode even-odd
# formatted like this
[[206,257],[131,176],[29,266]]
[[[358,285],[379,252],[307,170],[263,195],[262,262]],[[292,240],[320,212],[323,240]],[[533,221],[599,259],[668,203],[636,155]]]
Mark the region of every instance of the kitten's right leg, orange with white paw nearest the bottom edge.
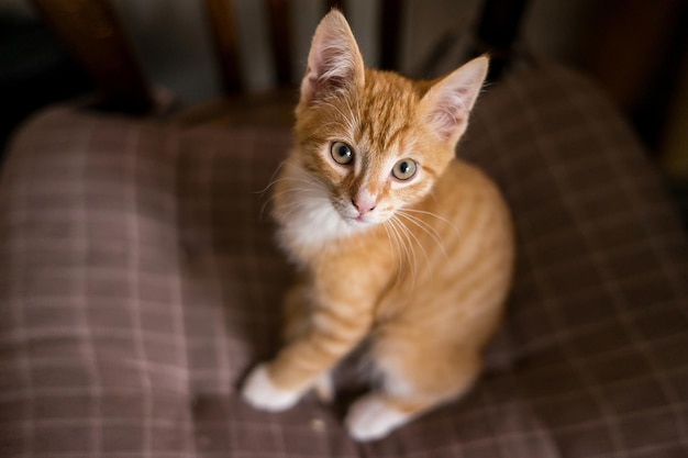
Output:
[[480,358],[474,350],[450,355],[446,348],[384,347],[374,356],[381,372],[380,388],[357,400],[346,416],[346,427],[356,440],[382,438],[464,394],[479,373]]

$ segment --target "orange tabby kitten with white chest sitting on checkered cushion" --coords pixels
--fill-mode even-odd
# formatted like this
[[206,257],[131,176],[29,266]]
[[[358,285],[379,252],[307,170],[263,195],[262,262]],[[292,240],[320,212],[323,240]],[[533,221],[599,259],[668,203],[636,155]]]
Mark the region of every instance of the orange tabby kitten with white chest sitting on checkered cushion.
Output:
[[454,157],[485,79],[480,57],[434,81],[366,68],[344,16],[318,26],[274,214],[300,269],[287,345],[248,376],[258,409],[292,406],[364,338],[377,389],[346,417],[387,435],[466,392],[498,325],[513,237],[499,191]]

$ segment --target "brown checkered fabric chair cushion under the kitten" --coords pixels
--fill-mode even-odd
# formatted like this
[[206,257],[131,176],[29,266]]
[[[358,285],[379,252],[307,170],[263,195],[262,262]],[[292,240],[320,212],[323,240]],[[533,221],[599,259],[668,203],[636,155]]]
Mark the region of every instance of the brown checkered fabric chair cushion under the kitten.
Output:
[[291,275],[265,192],[289,144],[70,108],[23,127],[0,188],[1,457],[688,457],[686,236],[603,96],[548,66],[490,88],[459,145],[519,241],[475,390],[365,445],[351,395],[244,405]]

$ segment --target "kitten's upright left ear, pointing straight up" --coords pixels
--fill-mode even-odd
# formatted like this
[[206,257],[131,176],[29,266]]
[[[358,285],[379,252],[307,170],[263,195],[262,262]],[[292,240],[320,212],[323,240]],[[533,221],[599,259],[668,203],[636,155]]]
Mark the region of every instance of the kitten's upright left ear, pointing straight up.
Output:
[[301,81],[301,102],[313,104],[360,87],[364,74],[363,57],[346,19],[336,10],[330,11],[313,35]]

